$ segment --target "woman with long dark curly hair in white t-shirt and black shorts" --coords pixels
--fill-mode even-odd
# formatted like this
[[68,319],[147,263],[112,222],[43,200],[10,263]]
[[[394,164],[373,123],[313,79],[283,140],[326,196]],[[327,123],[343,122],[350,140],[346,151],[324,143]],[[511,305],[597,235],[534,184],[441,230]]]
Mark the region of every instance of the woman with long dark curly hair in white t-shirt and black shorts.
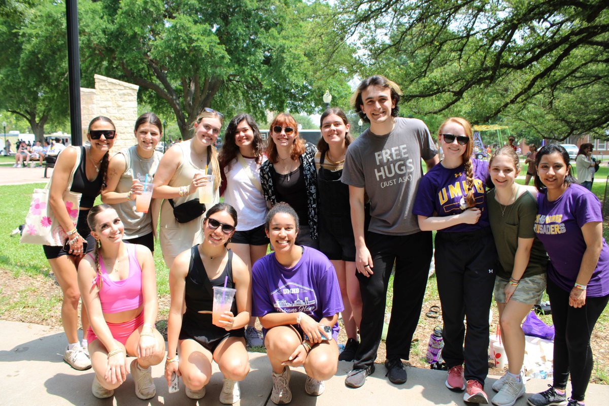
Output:
[[[266,255],[269,238],[264,233],[267,206],[260,184],[260,167],[266,161],[258,125],[249,114],[241,113],[231,119],[224,133],[220,150],[220,195],[224,202],[234,207],[239,225],[228,243],[248,270],[258,259]],[[252,317],[245,329],[245,341],[251,347],[264,346]]]

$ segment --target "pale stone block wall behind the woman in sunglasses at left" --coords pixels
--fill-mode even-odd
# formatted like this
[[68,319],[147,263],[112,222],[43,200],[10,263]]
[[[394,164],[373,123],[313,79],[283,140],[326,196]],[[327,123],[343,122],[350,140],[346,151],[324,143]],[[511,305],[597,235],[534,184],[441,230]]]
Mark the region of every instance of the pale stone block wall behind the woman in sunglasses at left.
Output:
[[89,122],[94,117],[106,116],[114,122],[117,133],[111,152],[135,145],[133,125],[138,119],[138,88],[102,75],[95,75],[95,89],[80,88],[83,143]]

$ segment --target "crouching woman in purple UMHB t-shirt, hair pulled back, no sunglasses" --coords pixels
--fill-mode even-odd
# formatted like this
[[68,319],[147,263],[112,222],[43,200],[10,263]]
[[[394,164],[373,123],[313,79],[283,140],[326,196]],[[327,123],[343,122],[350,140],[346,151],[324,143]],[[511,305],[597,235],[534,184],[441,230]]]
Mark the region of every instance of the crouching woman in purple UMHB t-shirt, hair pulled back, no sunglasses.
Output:
[[338,366],[339,284],[328,258],[295,245],[298,215],[287,203],[270,209],[264,225],[275,250],[252,267],[252,313],[262,324],[273,369],[270,400],[292,400],[290,366],[305,366],[306,393],[319,396]]

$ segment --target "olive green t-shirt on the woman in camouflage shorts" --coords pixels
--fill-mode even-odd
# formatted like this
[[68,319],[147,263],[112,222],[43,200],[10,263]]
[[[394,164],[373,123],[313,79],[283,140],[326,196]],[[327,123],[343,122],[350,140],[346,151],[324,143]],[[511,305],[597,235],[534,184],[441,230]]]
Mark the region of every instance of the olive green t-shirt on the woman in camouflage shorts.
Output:
[[[518,238],[534,238],[529,265],[522,278],[541,275],[546,272],[547,253],[543,244],[535,236],[533,225],[537,215],[537,202],[529,193],[524,192],[508,206],[499,205],[495,200],[495,189],[487,192],[488,219],[495,238],[495,247],[501,268],[496,273],[503,279],[510,279],[514,268],[514,256],[518,248]],[[502,209],[504,211],[502,212]]]

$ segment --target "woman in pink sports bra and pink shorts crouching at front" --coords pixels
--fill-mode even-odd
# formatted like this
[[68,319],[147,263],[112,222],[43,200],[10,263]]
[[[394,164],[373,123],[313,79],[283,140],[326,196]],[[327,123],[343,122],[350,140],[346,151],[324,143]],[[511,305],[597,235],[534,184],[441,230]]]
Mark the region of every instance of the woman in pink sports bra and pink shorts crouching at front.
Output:
[[99,399],[113,396],[127,378],[127,356],[135,394],[150,399],[157,390],[152,365],[161,363],[165,343],[155,330],[157,279],[150,250],[125,244],[124,226],[109,205],[91,208],[87,216],[95,252],[79,264],[80,295],[91,320],[86,332],[95,371],[91,391]]

